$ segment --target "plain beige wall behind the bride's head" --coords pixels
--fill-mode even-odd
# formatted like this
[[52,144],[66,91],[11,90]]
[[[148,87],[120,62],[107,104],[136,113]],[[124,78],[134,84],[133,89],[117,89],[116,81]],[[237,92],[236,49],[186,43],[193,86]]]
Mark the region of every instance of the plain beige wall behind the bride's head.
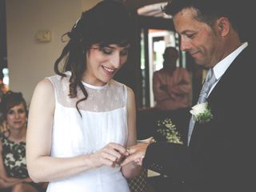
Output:
[[[6,0],[7,59],[10,90],[21,91],[28,105],[36,84],[54,74],[54,62],[65,46],[62,34],[99,0]],[[39,30],[50,30],[50,42],[37,42]]]

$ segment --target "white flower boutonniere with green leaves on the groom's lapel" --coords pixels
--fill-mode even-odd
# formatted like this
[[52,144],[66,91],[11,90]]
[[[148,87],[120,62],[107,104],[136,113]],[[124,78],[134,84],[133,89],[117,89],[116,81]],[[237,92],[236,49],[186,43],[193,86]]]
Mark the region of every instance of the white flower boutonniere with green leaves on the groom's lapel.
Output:
[[195,121],[200,123],[210,122],[210,120],[214,118],[213,114],[211,114],[208,102],[202,102],[193,106],[192,110],[190,110],[190,114],[193,114]]

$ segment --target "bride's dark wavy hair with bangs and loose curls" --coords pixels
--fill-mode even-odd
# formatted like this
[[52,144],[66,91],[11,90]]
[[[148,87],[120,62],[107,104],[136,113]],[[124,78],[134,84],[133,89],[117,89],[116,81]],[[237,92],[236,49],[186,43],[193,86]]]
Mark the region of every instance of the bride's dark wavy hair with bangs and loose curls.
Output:
[[[82,75],[86,70],[86,53],[93,44],[100,47],[110,44],[127,46],[133,38],[133,25],[130,14],[121,2],[104,0],[99,2],[90,10],[82,13],[81,18],[66,35],[70,38],[62,50],[62,54],[54,63],[56,74],[66,77],[66,71],[71,72],[69,97],[77,97],[78,88],[82,90],[84,98],[78,103],[87,99],[88,93],[82,85]],[[61,69],[62,59],[65,59]],[[80,111],[78,113],[81,115]]]

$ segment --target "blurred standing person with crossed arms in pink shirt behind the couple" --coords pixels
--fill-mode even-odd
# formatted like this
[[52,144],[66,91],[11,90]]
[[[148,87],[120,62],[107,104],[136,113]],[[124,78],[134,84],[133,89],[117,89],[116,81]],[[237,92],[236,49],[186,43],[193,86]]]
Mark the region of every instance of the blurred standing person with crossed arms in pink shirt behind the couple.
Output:
[[177,110],[191,105],[191,79],[189,72],[177,67],[178,50],[168,46],[163,54],[161,70],[153,74],[153,92],[158,110]]

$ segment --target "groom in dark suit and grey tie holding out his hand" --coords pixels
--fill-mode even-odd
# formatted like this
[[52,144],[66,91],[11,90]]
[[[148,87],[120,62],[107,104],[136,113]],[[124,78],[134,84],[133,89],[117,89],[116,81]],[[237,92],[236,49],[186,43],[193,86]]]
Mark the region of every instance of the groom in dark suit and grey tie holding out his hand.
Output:
[[204,99],[213,116],[190,125],[188,145],[138,144],[122,166],[134,161],[165,174],[178,183],[175,192],[256,191],[256,50],[243,40],[234,2],[173,0],[164,8],[173,16],[181,50],[216,78]]

